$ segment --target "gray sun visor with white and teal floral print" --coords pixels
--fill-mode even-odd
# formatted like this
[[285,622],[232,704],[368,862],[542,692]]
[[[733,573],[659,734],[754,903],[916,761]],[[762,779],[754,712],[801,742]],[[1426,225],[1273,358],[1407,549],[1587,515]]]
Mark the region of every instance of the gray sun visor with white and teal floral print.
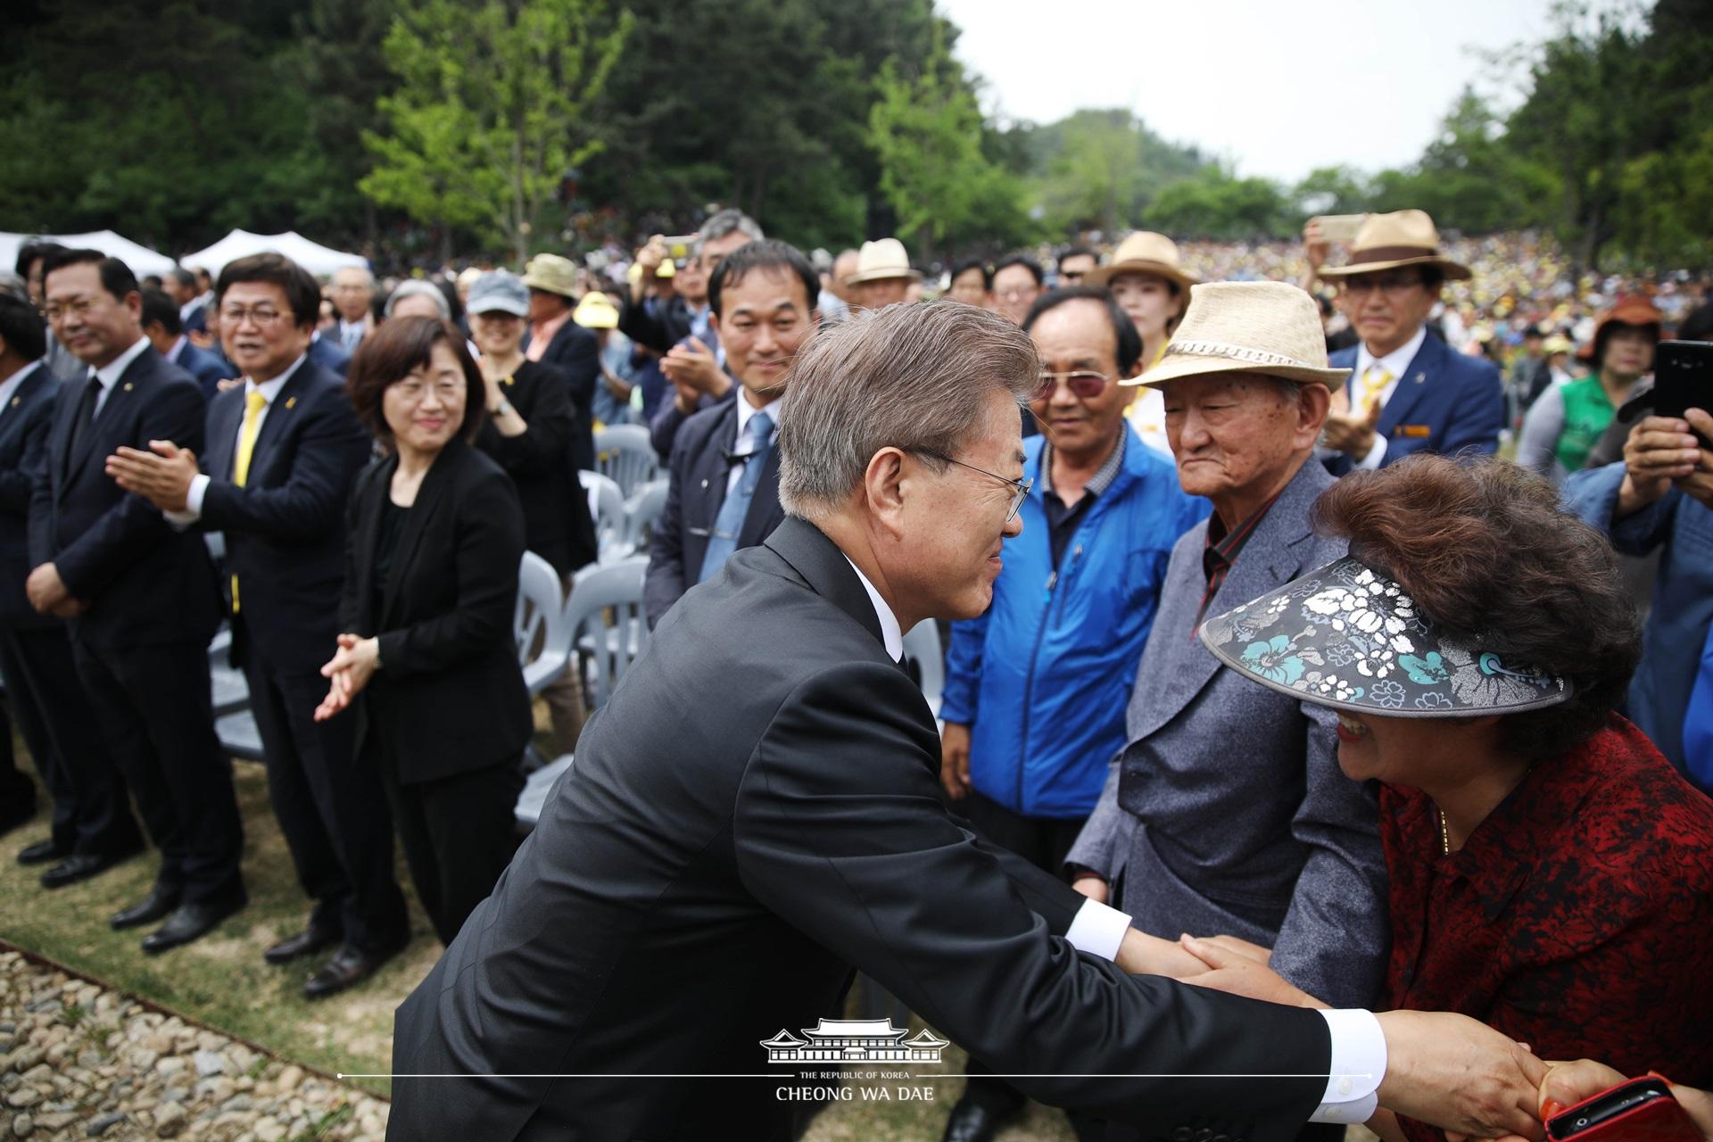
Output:
[[1209,618],[1201,640],[1264,687],[1386,717],[1473,717],[1555,705],[1571,685],[1453,640],[1393,579],[1355,558]]

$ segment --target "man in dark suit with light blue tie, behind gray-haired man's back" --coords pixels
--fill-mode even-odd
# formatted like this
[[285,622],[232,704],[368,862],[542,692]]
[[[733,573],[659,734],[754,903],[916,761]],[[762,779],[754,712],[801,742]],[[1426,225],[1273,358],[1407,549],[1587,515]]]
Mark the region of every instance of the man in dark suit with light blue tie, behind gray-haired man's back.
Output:
[[785,519],[773,443],[785,370],[815,330],[819,293],[815,267],[783,241],[752,241],[714,271],[707,296],[740,392],[683,421],[673,443],[642,589],[649,627]]

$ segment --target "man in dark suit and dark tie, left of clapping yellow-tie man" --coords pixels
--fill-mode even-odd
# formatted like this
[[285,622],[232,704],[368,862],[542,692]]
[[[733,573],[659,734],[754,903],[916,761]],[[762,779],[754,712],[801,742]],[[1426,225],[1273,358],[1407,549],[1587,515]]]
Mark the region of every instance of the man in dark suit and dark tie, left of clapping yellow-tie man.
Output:
[[219,589],[202,536],[175,531],[123,491],[103,459],[151,440],[200,452],[207,402],[142,336],[142,296],[123,262],[67,250],[45,272],[53,332],[89,375],[67,382],[55,402],[29,509],[36,568],[26,591],[38,611],[70,620],[77,675],[161,849],[149,897],[111,925],[164,918],[142,942],[164,952],[247,902],[231,762],[209,704]]

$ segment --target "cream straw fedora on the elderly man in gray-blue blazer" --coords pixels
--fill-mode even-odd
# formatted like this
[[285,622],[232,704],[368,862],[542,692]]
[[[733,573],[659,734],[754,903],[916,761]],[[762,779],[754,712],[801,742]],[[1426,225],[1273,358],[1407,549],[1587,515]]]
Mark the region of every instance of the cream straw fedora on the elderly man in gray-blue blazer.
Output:
[[1160,363],[1120,385],[1160,385],[1203,373],[1266,373],[1338,385],[1348,368],[1326,366],[1321,306],[1281,281],[1213,281],[1191,286],[1184,324]]

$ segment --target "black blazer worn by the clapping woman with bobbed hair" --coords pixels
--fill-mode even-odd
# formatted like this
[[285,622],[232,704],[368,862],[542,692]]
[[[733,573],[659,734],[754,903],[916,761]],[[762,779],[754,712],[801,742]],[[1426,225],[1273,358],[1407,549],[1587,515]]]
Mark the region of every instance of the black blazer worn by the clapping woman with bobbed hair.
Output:
[[534,724],[512,639],[524,556],[512,481],[463,440],[447,443],[404,515],[375,615],[380,505],[397,467],[397,455],[375,461],[351,490],[339,630],[380,635],[380,669],[353,712],[360,741],[375,735],[411,784],[516,758]]

